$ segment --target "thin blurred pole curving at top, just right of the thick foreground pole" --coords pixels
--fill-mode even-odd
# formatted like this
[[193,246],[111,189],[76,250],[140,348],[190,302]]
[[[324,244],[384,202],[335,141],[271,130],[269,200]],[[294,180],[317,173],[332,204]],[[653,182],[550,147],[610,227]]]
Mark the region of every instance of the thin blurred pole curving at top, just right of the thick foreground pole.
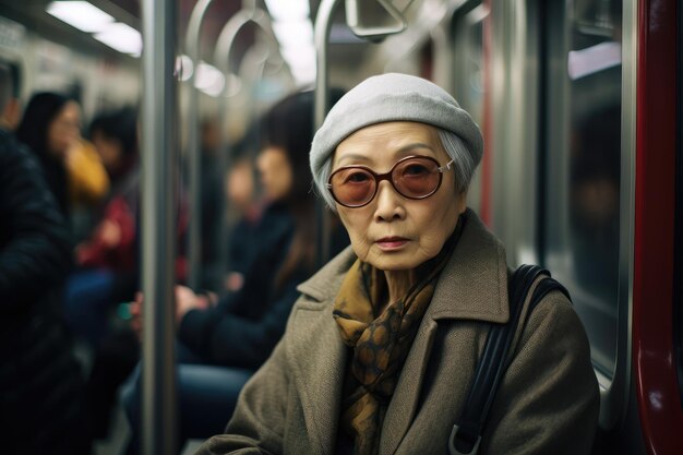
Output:
[[185,36],[185,51],[194,63],[194,71],[190,76],[190,99],[188,103],[188,165],[190,178],[188,193],[190,197],[190,224],[188,226],[188,263],[190,270],[189,284],[193,289],[200,287],[202,277],[202,151],[199,137],[199,108],[200,93],[194,86],[196,70],[202,56],[200,55],[200,33],[202,20],[213,0],[200,0],[192,10]]

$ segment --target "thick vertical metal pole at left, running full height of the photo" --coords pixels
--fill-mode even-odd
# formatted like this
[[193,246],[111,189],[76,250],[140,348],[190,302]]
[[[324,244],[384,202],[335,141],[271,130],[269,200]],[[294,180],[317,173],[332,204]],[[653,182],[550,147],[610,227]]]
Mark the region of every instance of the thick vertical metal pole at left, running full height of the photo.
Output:
[[176,153],[176,2],[143,0],[142,452],[175,454],[176,374],[173,330]]

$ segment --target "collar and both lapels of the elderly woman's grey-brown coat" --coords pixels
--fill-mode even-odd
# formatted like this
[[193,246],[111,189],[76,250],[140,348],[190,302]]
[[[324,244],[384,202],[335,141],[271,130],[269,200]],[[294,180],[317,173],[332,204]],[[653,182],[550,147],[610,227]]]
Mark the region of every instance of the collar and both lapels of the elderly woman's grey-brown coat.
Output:
[[[468,209],[466,219],[402,370],[384,420],[381,454],[396,452],[415,419],[439,321],[508,320],[505,251],[474,212]],[[326,454],[335,446],[347,348],[337,333],[331,302],[355,260],[349,248],[299,286],[316,302],[298,306],[292,315],[291,333],[297,337],[288,346],[289,358],[312,454]]]

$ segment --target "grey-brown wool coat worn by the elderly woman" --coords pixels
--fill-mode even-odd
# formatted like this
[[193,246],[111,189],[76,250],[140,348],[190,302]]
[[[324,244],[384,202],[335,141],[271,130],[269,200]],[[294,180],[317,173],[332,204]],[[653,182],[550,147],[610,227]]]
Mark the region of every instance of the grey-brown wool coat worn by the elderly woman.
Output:
[[[508,318],[505,251],[471,211],[400,372],[380,454],[447,454],[489,323]],[[197,454],[323,455],[335,451],[349,349],[332,306],[356,261],[342,252],[299,286],[287,331],[244,386],[226,434]],[[513,339],[480,454],[590,453],[598,383],[584,327],[554,291],[525,314]]]

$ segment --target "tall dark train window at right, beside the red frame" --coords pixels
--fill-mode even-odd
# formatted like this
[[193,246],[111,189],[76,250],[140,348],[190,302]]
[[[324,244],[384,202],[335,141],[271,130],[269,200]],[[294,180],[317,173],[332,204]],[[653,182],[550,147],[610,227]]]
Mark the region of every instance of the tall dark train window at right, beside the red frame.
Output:
[[571,290],[596,370],[611,379],[620,268],[621,1],[576,0],[571,9],[549,3],[542,251]]

